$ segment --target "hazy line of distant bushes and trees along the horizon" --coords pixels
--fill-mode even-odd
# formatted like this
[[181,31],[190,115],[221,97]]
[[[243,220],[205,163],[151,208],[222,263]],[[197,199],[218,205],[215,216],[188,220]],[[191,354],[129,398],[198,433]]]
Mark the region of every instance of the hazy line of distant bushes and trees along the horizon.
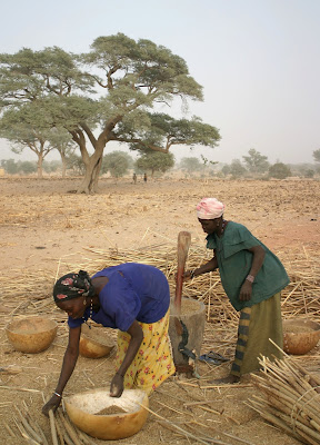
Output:
[[[219,178],[254,178],[254,179],[286,179],[290,176],[299,176],[304,178],[313,178],[314,175],[320,175],[320,150],[313,151],[316,165],[298,164],[286,165],[277,161],[270,164],[268,157],[261,155],[256,149],[250,149],[247,156],[240,159],[233,159],[230,164],[220,165],[216,161],[209,161],[202,155],[200,157],[184,157],[179,164],[174,162],[174,157],[171,152],[163,154],[159,151],[146,151],[136,160],[127,152],[116,150],[103,156],[100,175],[109,174],[113,178],[121,178],[130,170],[142,175],[148,172],[151,177],[154,174],[162,175],[173,167],[181,170],[186,176],[212,176]],[[318,165],[319,164],[319,165]],[[39,174],[39,165],[36,161],[14,161],[13,159],[2,160],[1,167],[9,175],[16,174]],[[86,166],[81,156],[76,155],[73,150],[66,150],[63,162],[53,160],[43,160],[41,169],[47,174],[61,172],[69,175],[83,176]],[[38,175],[39,176],[39,175]]]

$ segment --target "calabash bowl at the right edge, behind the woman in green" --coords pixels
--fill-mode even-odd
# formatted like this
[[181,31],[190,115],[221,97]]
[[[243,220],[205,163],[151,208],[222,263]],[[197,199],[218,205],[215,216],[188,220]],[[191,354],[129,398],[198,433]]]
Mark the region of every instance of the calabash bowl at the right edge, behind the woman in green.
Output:
[[313,349],[320,339],[319,323],[309,319],[283,320],[283,350],[303,355]]

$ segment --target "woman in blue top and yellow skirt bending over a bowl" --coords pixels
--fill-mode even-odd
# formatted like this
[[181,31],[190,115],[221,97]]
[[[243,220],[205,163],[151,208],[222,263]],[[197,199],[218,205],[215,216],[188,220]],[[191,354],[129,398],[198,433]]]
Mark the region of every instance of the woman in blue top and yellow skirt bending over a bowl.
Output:
[[43,414],[60,404],[78,359],[81,325],[89,318],[119,329],[111,396],[120,397],[124,387],[149,394],[176,372],[168,336],[170,291],[161,270],[136,263],[108,267],[91,278],[80,270],[58,279],[53,298],[68,314],[70,332],[59,382]]

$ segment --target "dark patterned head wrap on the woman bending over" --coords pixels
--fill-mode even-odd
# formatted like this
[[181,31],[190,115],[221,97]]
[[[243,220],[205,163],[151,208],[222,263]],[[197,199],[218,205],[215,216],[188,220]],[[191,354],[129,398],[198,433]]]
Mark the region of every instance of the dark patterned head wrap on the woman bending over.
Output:
[[67,274],[59,278],[53,287],[54,301],[67,301],[78,297],[93,297],[96,289],[87,271]]

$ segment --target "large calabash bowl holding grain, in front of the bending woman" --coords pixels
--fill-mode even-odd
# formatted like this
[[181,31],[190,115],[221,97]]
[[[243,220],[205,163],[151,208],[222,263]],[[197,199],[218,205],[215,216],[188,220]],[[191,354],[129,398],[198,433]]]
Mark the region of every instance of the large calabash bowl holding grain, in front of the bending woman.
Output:
[[148,417],[147,393],[124,389],[118,398],[110,397],[109,392],[109,388],[97,388],[63,398],[70,421],[100,439],[118,441],[138,433]]

